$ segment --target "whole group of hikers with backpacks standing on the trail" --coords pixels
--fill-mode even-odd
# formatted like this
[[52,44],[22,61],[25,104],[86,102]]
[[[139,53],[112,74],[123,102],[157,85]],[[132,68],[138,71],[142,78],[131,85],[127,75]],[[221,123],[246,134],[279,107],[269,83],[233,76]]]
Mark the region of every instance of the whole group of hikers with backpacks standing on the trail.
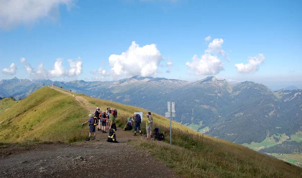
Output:
[[[115,138],[115,131],[116,131],[116,117],[117,117],[117,110],[116,109],[110,109],[107,108],[106,112],[102,112],[100,108],[97,108],[94,115],[89,114],[89,120],[82,123],[82,128],[84,124],[89,123],[89,137],[86,139],[86,141],[90,140],[91,134],[94,134],[94,139],[96,139],[96,127],[98,131],[107,133],[106,132],[106,126],[109,126],[109,138],[112,138],[111,140],[113,142],[117,142]],[[147,139],[151,138],[152,135],[152,126],[153,126],[153,117],[151,116],[151,113],[148,112],[148,114],[145,115],[146,117],[146,137]],[[141,129],[140,129],[140,123],[141,123],[141,117],[139,114],[134,114],[133,117],[128,118],[127,126],[131,125],[131,129],[127,129],[127,126],[124,130],[132,130],[132,121],[134,122],[134,135],[136,135],[136,131],[138,129],[139,134],[142,136]],[[108,139],[109,140],[109,139]]]

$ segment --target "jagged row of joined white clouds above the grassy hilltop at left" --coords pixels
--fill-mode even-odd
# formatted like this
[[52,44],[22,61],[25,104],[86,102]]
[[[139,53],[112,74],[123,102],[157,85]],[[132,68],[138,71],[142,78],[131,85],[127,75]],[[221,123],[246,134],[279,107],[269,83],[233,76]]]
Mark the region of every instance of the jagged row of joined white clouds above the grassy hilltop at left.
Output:
[[63,59],[57,58],[52,70],[46,70],[41,62],[37,69],[34,69],[31,64],[26,64],[24,67],[26,71],[35,79],[48,79],[55,77],[75,77],[82,73],[82,61],[81,58],[78,58],[78,61],[68,60],[70,69],[65,70],[62,65]]

